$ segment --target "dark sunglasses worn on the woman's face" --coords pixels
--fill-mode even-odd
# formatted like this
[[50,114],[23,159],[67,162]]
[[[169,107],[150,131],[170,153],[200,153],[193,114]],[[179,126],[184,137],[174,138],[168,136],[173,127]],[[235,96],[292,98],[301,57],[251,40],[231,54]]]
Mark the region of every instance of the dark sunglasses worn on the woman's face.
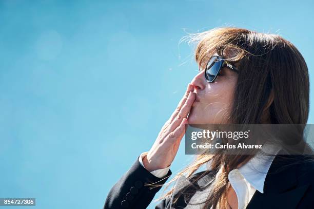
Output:
[[237,67],[224,60],[221,56],[212,56],[205,69],[206,81],[209,83],[214,82],[223,67],[227,67],[230,70],[239,73]]

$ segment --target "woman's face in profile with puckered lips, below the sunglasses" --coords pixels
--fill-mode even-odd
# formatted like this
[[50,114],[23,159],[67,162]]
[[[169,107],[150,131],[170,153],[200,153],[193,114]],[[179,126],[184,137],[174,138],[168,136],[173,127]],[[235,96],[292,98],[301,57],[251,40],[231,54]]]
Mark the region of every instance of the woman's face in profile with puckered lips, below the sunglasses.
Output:
[[191,81],[196,95],[188,116],[188,123],[228,123],[237,79],[238,74],[228,68],[222,68],[213,83],[205,80],[204,70],[199,72]]

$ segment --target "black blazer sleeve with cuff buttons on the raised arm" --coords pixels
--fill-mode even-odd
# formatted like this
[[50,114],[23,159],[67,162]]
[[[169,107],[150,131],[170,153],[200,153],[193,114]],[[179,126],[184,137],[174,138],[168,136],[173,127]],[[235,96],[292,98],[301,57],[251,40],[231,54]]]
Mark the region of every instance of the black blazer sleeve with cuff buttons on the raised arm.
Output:
[[[155,177],[140,164],[139,157],[136,158],[131,168],[110,189],[103,209],[146,208],[162,187],[147,184],[163,185],[171,174],[169,169],[164,178]],[[162,204],[165,202],[158,208],[162,208]]]

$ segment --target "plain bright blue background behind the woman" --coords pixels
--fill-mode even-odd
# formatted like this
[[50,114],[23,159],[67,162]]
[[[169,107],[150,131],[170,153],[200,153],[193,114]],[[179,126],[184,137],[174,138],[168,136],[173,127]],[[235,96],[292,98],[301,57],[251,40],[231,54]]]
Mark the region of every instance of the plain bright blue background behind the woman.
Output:
[[[0,197],[34,197],[35,208],[102,208],[197,73],[193,47],[179,44],[187,32],[278,33],[301,51],[313,81],[313,6],[1,1]],[[190,160],[181,146],[173,173]]]

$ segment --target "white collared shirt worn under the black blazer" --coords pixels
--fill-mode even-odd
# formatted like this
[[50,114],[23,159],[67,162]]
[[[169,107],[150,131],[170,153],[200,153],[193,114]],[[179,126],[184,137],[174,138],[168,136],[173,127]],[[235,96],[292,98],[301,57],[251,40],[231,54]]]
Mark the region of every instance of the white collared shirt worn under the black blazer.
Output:
[[[261,151],[259,151],[257,155],[251,158],[246,164],[229,172],[228,179],[235,191],[235,194],[237,194],[239,209],[246,208],[256,190],[258,190],[260,193],[264,193],[264,182],[266,175],[274,159],[274,156],[277,155],[279,150],[279,146],[265,143],[263,144]],[[144,165],[142,158],[147,155],[147,153],[148,152],[142,153],[139,157],[139,161],[143,167]],[[169,169],[170,166],[163,169],[154,170],[150,173],[158,178],[162,178],[168,173]],[[216,175],[216,179],[220,173],[221,169]],[[207,192],[209,193],[210,191]],[[201,202],[206,200],[207,197],[208,194],[206,194],[205,191],[202,193],[197,192],[191,198],[190,202],[195,203],[195,200]],[[199,207],[200,205],[198,205],[198,208]]]

